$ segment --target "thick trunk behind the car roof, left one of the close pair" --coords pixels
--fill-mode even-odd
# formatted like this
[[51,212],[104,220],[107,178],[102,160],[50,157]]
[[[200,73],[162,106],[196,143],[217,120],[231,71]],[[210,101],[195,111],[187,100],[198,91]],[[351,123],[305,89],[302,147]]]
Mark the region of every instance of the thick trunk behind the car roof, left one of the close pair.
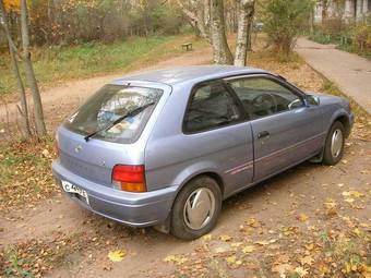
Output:
[[232,64],[224,22],[223,0],[211,0],[211,39],[214,62],[218,64]]

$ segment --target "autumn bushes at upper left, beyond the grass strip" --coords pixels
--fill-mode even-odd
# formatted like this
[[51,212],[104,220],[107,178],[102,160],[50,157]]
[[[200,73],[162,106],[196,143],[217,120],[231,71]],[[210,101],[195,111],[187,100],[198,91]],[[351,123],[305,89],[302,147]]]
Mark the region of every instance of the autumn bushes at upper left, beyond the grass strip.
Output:
[[[110,41],[128,36],[173,35],[184,24],[171,1],[160,0],[49,0],[27,1],[33,45],[70,45]],[[19,0],[5,0],[13,35],[19,21]],[[0,44],[4,44],[1,41]]]

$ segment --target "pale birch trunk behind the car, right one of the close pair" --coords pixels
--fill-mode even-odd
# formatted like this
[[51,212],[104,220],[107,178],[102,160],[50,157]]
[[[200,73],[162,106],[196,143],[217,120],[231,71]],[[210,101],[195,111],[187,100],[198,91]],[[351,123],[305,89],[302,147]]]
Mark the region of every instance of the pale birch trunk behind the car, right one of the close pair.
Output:
[[240,0],[238,14],[235,65],[244,67],[249,48],[251,49],[251,25],[255,0]]

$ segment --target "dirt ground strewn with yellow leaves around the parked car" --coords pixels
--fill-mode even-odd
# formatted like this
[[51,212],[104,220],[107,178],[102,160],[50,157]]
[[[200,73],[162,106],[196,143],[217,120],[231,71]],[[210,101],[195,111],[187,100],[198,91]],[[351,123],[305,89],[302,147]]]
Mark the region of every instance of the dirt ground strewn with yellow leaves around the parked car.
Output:
[[[340,94],[297,57],[277,62],[256,51],[250,63]],[[340,164],[306,162],[227,200],[217,227],[192,242],[71,203],[52,183],[52,140],[2,144],[0,277],[370,278],[371,119],[352,107],[357,122]],[[55,112],[48,117],[69,111]]]

